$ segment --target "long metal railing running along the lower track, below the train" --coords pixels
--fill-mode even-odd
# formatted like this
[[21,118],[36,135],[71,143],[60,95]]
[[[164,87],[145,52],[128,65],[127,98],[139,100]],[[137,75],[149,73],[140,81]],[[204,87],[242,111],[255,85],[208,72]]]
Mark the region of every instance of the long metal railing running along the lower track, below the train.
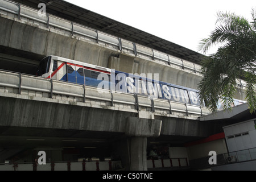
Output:
[[[104,94],[101,94],[96,92],[98,88],[92,86],[73,84],[9,71],[0,70],[0,86],[16,89],[17,94],[23,94],[22,90],[28,90],[28,92],[31,91],[38,97],[54,98],[56,95],[63,95],[75,97],[77,102],[86,103],[86,100],[89,99],[109,102],[110,106],[114,106],[114,104],[132,105],[134,112],[140,110],[141,107],[154,107],[155,112],[157,112],[157,110],[166,110],[167,113],[170,114],[174,114],[175,112],[184,113],[186,116],[189,114],[209,114],[209,110],[201,106],[161,99],[150,101],[148,97],[139,94],[113,93],[111,90],[104,90]],[[36,94],[37,92],[40,94]],[[133,110],[130,109],[130,111]]]

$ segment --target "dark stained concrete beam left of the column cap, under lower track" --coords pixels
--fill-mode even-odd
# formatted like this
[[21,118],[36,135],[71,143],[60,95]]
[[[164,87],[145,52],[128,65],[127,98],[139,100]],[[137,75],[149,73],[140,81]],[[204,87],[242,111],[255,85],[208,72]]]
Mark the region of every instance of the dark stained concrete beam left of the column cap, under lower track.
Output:
[[125,133],[126,118],[117,110],[0,97],[0,126]]

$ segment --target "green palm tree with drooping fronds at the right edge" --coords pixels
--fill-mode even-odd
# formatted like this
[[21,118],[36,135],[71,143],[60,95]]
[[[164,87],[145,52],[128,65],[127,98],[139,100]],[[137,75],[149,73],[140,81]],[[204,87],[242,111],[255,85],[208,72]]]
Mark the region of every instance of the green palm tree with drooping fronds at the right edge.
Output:
[[234,13],[217,13],[215,30],[201,40],[203,53],[214,44],[222,45],[201,63],[199,99],[212,112],[217,111],[220,100],[224,109],[232,109],[236,79],[242,79],[250,113],[256,113],[256,12],[252,10],[251,15],[253,22]]

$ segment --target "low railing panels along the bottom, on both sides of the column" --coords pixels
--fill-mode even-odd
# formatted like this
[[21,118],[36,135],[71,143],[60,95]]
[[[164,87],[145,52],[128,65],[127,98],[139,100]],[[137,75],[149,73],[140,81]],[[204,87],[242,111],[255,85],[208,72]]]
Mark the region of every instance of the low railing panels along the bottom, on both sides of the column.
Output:
[[[147,168],[189,167],[187,158],[147,159]],[[122,169],[121,161],[65,161],[0,164],[0,171],[114,171]]]

